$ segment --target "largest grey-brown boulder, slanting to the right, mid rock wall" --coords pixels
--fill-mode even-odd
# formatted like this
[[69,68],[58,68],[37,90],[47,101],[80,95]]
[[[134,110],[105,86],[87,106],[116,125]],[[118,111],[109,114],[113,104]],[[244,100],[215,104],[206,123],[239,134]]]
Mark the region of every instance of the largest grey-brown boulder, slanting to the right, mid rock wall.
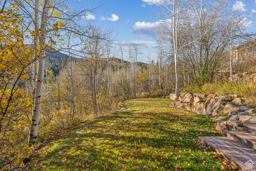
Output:
[[209,116],[209,117],[217,116],[222,111],[226,103],[227,102],[223,99],[211,99],[211,102],[206,109],[206,116]]

